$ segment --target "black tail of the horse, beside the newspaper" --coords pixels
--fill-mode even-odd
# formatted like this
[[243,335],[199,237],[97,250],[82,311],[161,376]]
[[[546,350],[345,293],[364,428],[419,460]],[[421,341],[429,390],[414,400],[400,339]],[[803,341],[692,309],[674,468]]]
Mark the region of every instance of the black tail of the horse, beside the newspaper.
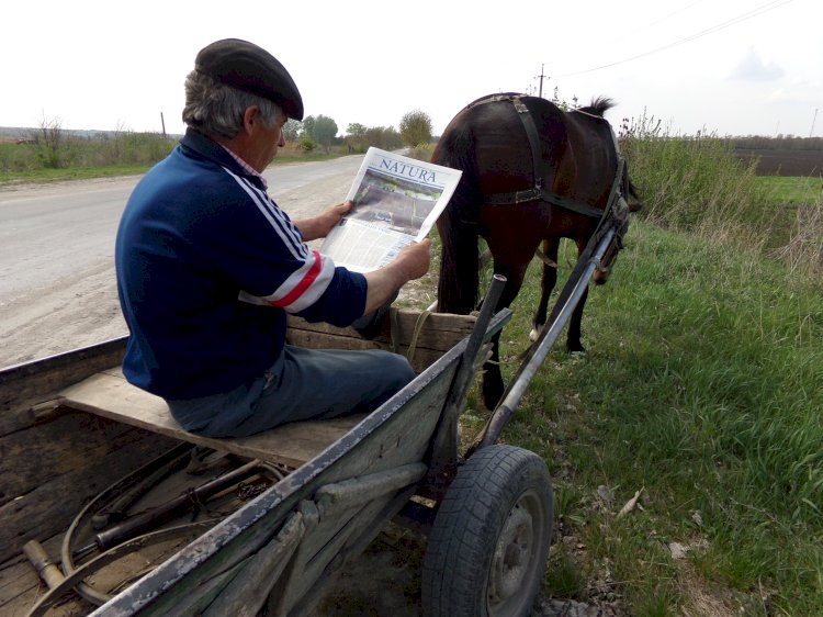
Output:
[[[455,119],[456,120],[456,119]],[[477,306],[480,195],[473,139],[466,131],[447,127],[431,161],[461,169],[463,176],[437,222],[442,243],[437,296],[441,313],[467,314]]]

